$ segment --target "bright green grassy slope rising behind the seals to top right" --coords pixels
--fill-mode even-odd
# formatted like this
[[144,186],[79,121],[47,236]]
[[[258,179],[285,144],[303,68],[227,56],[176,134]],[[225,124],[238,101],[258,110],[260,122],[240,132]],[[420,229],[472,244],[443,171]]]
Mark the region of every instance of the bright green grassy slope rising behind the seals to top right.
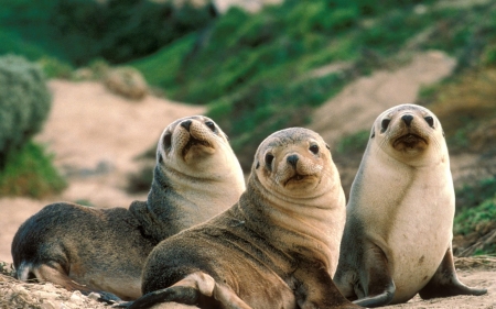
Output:
[[[314,107],[406,45],[446,51],[462,59],[459,69],[471,66],[470,56],[496,58],[495,44],[477,43],[492,42],[495,14],[492,2],[467,10],[438,1],[288,0],[255,15],[231,9],[209,33],[191,34],[131,65],[168,97],[207,103],[248,170],[265,136],[305,125]],[[313,74],[336,62],[349,66]]]

